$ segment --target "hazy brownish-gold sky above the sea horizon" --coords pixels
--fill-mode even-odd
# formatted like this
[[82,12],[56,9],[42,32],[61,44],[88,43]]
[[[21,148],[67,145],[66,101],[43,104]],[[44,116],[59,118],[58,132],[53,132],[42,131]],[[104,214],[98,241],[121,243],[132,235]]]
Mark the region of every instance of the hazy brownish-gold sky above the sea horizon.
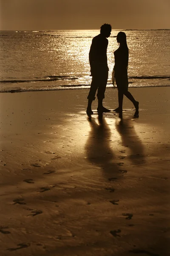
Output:
[[0,0],[0,30],[170,29],[170,0]]

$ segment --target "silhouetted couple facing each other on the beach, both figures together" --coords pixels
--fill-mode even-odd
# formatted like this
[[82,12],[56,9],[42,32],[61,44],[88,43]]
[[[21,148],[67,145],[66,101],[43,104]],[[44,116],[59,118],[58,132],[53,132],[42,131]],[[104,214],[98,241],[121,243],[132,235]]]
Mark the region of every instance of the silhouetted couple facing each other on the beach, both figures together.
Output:
[[[95,36],[92,40],[91,49],[89,52],[89,61],[91,67],[91,88],[88,94],[88,107],[87,115],[91,116],[93,111],[91,110],[91,104],[95,100],[96,90],[98,99],[97,112],[106,113],[110,112],[109,109],[103,107],[103,99],[105,98],[105,89],[108,81],[108,63],[107,63],[107,47],[108,37],[111,35],[111,25],[103,24],[100,28],[100,34]],[[139,102],[137,102],[132,94],[128,91],[128,78],[127,78],[127,66],[128,66],[128,47],[126,42],[126,34],[119,32],[117,34],[117,42],[119,48],[114,52],[115,65],[113,69],[116,85],[118,88],[118,100],[119,107],[113,111],[122,116],[122,104],[123,95],[125,95],[133,105],[135,106],[136,112],[134,117],[139,116]]]

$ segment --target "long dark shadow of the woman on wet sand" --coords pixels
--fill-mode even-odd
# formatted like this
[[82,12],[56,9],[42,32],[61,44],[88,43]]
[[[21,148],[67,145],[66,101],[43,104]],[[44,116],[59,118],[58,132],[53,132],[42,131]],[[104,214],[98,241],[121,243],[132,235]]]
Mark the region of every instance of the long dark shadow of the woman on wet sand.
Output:
[[139,136],[136,134],[134,121],[129,118],[116,119],[115,127],[121,136],[122,145],[130,151],[130,154],[125,154],[125,157],[128,157],[134,164],[143,164],[145,161],[144,147]]

